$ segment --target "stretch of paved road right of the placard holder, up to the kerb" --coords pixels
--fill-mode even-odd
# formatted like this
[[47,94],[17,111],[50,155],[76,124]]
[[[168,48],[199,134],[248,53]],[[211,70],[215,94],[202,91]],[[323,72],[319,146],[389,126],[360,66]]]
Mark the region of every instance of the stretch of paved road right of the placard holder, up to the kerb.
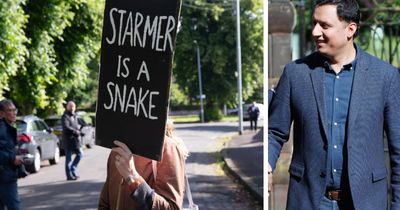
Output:
[[176,134],[190,151],[187,173],[194,202],[200,210],[262,209],[216,164],[224,142],[220,137],[236,135],[237,123],[178,124]]

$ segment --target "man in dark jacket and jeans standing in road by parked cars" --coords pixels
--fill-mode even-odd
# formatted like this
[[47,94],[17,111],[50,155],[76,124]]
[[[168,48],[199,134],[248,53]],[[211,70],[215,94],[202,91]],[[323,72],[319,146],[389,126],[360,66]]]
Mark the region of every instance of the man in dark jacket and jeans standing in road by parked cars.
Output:
[[[65,150],[65,173],[67,180],[77,180],[79,176],[75,171],[79,161],[82,159],[83,151],[81,149],[78,119],[75,114],[76,105],[73,101],[69,101],[66,110],[61,117],[62,124],[62,140]],[[72,161],[72,154],[75,154],[75,159]]]

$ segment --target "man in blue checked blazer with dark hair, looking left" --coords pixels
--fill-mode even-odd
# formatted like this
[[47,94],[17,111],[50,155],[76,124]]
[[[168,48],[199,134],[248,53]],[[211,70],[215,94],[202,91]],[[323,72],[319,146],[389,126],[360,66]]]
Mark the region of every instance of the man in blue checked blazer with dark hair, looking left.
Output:
[[[356,0],[317,1],[317,51],[286,65],[269,107],[268,177],[293,123],[287,209],[400,209],[400,74],[354,44]],[[270,187],[270,186],[269,186]]]

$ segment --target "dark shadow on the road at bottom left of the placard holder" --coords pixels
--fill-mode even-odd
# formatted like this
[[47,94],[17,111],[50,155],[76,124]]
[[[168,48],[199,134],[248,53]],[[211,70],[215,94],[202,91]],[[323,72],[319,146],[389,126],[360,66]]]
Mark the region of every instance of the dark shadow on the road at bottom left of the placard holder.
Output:
[[22,209],[97,209],[103,184],[104,182],[63,181],[19,187],[18,191]]

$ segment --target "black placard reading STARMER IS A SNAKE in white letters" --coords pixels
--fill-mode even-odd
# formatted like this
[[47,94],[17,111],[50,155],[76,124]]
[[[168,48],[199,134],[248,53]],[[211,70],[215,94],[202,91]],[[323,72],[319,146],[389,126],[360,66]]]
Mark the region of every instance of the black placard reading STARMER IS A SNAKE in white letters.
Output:
[[107,0],[96,143],[160,160],[180,0]]

